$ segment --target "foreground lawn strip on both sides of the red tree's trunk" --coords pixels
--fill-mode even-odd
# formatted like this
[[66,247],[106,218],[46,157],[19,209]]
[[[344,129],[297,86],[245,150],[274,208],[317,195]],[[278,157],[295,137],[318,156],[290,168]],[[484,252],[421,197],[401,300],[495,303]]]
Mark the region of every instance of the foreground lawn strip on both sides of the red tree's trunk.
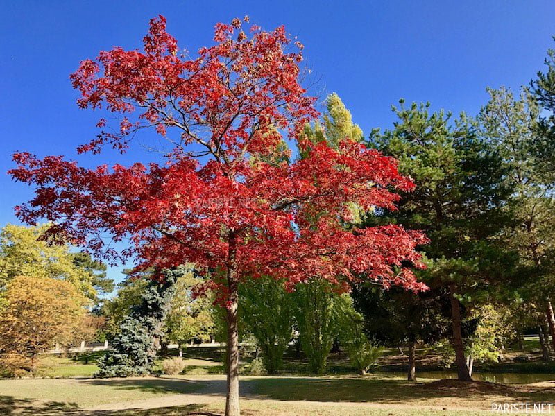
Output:
[[[0,414],[219,415],[224,395],[224,376],[0,380]],[[555,383],[244,376],[241,395],[245,415],[474,415],[490,413],[493,402],[552,402]]]

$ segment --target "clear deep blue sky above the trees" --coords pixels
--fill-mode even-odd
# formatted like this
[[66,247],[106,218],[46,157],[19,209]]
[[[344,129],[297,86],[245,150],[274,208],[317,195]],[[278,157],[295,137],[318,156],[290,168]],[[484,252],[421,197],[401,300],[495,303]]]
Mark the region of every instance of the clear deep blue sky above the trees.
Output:
[[[159,14],[189,51],[210,44],[217,21],[249,15],[266,29],[284,24],[305,44],[313,93],[337,92],[366,135],[391,125],[400,97],[475,114],[486,87],[527,84],[555,47],[553,0],[0,0],[0,10],[0,226],[17,223],[13,205],[31,197],[6,175],[14,151],[74,157],[95,135],[98,116],[78,110],[69,73],[101,49],[140,47]],[[148,157],[139,153],[124,163]],[[118,270],[111,277],[120,279]]]

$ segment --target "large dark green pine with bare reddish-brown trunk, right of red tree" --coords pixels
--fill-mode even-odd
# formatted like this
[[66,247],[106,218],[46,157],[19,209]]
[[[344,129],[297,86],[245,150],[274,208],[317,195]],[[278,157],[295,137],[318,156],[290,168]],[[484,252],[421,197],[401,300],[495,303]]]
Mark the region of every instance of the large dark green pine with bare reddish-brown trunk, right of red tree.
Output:
[[449,294],[457,371],[460,380],[470,381],[462,311],[486,302],[506,275],[499,265],[511,264],[497,245],[509,218],[504,166],[466,114],[451,121],[452,114],[443,110],[430,114],[429,103],[400,104],[393,107],[398,116],[393,129],[374,130],[369,146],[398,158],[400,171],[416,182],[392,216],[405,227],[423,230],[430,240],[423,248],[428,269],[421,275],[430,287]]

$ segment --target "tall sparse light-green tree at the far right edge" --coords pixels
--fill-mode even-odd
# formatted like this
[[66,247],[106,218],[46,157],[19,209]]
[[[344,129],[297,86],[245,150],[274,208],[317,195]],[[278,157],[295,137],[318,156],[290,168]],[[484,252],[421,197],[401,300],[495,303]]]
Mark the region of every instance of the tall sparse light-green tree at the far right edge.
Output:
[[[545,78],[544,83],[547,83]],[[520,279],[520,295],[544,311],[555,347],[555,318],[550,296],[555,290],[555,182],[545,161],[555,159],[549,148],[536,151],[540,106],[528,89],[517,99],[504,87],[488,89],[490,100],[481,109],[481,135],[493,142],[506,167],[514,224],[505,231],[506,243],[517,251],[529,272]],[[555,148],[552,148],[555,152]],[[541,325],[541,322],[540,322]]]

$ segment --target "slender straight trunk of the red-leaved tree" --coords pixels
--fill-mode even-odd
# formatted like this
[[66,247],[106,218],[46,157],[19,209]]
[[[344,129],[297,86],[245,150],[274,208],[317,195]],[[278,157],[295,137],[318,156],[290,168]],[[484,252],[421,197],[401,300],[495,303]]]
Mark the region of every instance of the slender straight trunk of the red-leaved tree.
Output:
[[228,304],[226,318],[228,323],[227,395],[225,397],[225,416],[239,416],[239,331],[237,328],[237,306],[239,304],[237,276],[237,235],[230,232],[228,240]]

